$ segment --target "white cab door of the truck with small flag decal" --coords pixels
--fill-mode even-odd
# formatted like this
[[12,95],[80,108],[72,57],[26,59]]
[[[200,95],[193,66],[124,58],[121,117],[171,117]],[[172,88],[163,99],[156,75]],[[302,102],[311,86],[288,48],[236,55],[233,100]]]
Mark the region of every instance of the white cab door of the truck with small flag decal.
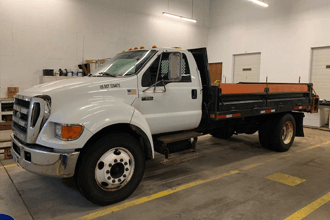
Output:
[[[190,58],[193,59],[191,54]],[[133,106],[145,117],[152,134],[189,130],[200,123],[200,86],[198,79],[191,76],[193,69],[190,69],[187,54],[184,53],[181,68],[182,79],[179,82],[165,85],[161,82],[149,88],[156,82],[168,80],[169,53],[162,53],[139,74],[139,98]]]

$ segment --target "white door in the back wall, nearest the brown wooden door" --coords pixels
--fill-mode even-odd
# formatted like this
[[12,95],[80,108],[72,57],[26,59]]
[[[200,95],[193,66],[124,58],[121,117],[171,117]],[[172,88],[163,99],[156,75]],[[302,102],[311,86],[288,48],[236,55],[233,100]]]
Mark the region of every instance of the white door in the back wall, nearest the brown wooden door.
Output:
[[259,82],[261,53],[234,55],[234,83]]

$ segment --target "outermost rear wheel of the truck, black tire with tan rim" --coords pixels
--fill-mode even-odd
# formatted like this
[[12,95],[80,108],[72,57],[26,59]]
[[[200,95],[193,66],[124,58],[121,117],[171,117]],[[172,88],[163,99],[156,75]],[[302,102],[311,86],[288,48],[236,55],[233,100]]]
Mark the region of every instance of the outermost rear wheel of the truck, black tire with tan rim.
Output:
[[291,114],[285,114],[272,123],[270,146],[273,150],[285,152],[290,149],[296,136],[296,122]]

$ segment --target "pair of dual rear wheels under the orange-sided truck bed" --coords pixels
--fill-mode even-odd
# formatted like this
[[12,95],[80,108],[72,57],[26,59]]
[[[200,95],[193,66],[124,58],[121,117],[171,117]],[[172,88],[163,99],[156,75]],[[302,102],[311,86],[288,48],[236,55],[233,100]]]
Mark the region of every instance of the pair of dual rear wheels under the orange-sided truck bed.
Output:
[[285,152],[296,136],[296,122],[292,114],[281,115],[260,125],[259,141],[267,149]]

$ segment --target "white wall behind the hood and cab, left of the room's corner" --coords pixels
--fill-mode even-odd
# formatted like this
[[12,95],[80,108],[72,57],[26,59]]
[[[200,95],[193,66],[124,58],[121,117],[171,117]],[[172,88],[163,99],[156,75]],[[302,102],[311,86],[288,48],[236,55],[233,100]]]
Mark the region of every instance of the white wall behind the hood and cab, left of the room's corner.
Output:
[[209,0],[1,0],[0,86],[24,90],[42,69],[71,68],[134,46],[207,46]]

